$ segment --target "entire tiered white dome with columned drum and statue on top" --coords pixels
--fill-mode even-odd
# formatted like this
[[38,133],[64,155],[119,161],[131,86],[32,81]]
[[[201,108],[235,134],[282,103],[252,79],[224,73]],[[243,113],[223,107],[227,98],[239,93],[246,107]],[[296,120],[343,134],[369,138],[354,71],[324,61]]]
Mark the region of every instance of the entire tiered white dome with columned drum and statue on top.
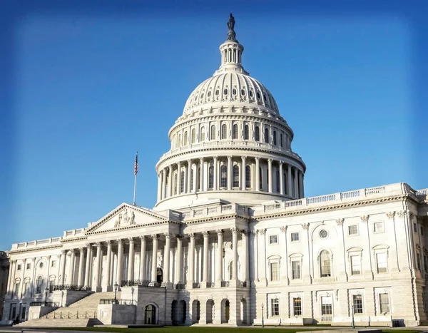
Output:
[[243,51],[230,14],[220,67],[190,93],[156,165],[156,209],[303,198],[306,166],[292,152],[294,133],[270,91],[243,68]]

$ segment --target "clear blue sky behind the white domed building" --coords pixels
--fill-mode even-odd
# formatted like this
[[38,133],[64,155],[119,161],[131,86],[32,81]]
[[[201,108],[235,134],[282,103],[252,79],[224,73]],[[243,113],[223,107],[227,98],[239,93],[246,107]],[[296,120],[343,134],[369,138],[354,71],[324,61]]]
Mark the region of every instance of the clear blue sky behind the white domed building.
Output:
[[161,2],[2,5],[0,250],[131,203],[136,150],[137,203],[153,207],[168,130],[220,65],[230,11],[245,69],[295,132],[305,195],[428,188],[424,6]]

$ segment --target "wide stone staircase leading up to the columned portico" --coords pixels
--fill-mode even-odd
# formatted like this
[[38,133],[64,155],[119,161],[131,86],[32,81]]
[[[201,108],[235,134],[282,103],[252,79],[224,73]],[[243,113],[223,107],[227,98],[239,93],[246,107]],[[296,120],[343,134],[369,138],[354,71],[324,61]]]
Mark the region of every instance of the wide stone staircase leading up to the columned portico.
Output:
[[[118,292],[117,298],[121,294]],[[113,299],[114,292],[95,292],[68,307],[58,307],[39,319],[31,319],[16,327],[88,327],[103,324],[97,319],[98,304],[101,299]]]

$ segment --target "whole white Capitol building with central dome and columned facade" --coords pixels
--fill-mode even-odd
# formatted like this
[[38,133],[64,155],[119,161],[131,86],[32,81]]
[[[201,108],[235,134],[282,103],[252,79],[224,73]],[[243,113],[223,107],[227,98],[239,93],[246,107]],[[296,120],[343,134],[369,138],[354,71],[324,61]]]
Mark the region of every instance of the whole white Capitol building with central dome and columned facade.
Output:
[[230,15],[220,67],[170,128],[155,207],[123,203],[58,237],[13,244],[4,321],[427,321],[428,190],[306,198],[294,132],[243,67],[234,28]]

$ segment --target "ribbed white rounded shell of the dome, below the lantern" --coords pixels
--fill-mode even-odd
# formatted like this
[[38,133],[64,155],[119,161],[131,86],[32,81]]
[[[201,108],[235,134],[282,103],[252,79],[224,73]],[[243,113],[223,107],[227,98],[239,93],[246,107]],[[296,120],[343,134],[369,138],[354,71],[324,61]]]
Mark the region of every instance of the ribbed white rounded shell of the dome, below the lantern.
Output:
[[204,104],[239,103],[240,106],[262,106],[278,115],[275,99],[270,91],[255,78],[243,73],[220,73],[206,79],[195,88],[185,103],[184,114]]

